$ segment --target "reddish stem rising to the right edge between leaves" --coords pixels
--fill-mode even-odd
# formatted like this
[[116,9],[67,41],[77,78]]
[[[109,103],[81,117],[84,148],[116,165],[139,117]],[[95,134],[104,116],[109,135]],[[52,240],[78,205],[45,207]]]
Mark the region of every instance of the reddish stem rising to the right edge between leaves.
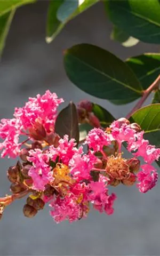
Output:
[[143,102],[148,98],[149,94],[153,91],[158,89],[160,83],[160,75],[156,78],[156,80],[143,92],[142,98],[137,102],[137,104],[134,106],[134,108],[130,111],[129,114],[127,114],[126,119],[129,119],[131,115],[138,110],[142,105]]

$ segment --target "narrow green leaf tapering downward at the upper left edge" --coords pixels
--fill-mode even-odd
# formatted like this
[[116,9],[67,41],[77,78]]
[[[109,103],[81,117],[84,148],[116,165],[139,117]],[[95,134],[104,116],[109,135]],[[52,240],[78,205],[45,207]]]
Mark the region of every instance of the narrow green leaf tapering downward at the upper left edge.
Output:
[[11,12],[8,12],[0,17],[0,55],[4,49],[5,41],[7,34],[9,33],[11,21],[13,19],[13,15],[15,13],[15,9]]

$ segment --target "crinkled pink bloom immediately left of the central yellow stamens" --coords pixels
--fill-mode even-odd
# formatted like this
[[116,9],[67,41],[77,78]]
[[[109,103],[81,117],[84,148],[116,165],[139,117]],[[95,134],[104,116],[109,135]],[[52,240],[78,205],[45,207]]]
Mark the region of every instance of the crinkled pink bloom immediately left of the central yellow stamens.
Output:
[[53,172],[49,166],[49,154],[41,149],[29,151],[28,161],[33,164],[28,175],[33,179],[33,189],[44,190],[45,185],[53,181]]

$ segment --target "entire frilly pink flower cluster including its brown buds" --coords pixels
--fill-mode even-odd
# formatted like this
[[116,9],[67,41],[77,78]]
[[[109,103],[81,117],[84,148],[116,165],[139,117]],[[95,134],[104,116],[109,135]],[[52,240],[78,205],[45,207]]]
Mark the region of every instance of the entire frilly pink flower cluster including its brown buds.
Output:
[[[138,124],[130,124],[125,118],[114,121],[106,130],[99,126],[92,129],[84,142],[87,153],[82,146],[77,148],[75,139],[69,140],[68,135],[57,135],[54,143],[61,102],[55,93],[46,91],[42,96],[29,98],[24,107],[15,108],[13,119],[1,120],[2,157],[16,157],[26,141],[34,141],[34,147],[33,143],[27,145],[25,157],[21,157],[23,163],[18,162],[8,172],[16,196],[24,190],[33,193],[25,205],[27,217],[33,217],[45,203],[49,203],[51,215],[58,223],[85,218],[91,205],[109,215],[114,212],[117,198],[114,193],[109,194],[109,186],[132,186],[138,181],[139,191],[146,193],[156,185],[158,173],[152,164],[158,160],[160,149],[143,138]],[[27,136],[27,140],[20,143],[20,135]],[[123,157],[123,142],[133,155],[129,159]],[[145,162],[142,165],[139,157]]]

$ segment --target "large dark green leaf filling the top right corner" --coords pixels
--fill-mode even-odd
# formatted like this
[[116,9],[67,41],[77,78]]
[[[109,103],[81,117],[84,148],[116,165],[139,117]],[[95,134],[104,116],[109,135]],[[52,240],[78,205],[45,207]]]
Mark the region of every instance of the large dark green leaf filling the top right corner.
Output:
[[115,26],[147,43],[160,43],[159,0],[105,0]]

